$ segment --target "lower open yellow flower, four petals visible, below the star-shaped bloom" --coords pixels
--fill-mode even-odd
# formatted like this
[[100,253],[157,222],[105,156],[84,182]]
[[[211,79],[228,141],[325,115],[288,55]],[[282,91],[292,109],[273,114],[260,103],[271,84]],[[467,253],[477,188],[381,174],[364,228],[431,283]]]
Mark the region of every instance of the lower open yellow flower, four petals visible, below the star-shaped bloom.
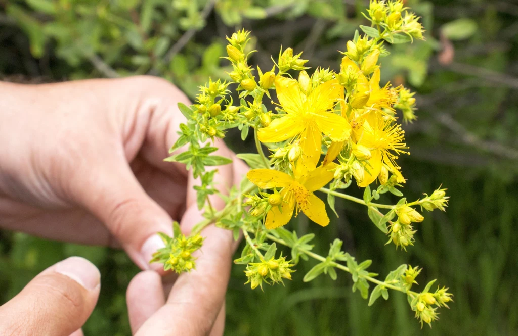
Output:
[[320,166],[305,176],[295,178],[281,171],[272,169],[253,169],[247,173],[247,178],[262,189],[283,188],[280,192],[282,204],[272,207],[266,215],[265,226],[275,229],[290,221],[293,211],[295,216],[304,212],[316,224],[326,226],[329,218],[324,202],[313,192],[320,189],[333,179],[335,164]]

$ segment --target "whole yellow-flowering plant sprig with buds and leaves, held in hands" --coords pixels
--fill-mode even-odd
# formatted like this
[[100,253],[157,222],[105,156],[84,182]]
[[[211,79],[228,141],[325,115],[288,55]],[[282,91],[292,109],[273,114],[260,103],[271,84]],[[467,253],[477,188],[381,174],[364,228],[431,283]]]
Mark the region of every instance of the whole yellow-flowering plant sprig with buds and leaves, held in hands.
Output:
[[[178,235],[164,236],[167,246],[155,254],[153,261],[163,262],[165,269],[178,273],[191,271],[195,268],[191,254],[203,242],[199,232],[215,223],[232,230],[235,239],[240,233],[244,236],[247,244],[235,263],[246,265],[247,283],[252,288],[291,280],[293,267],[300,259],[311,257],[320,263],[304,276],[305,282],[322,273],[336,279],[339,269],[351,273],[352,290],[359,290],[366,299],[369,283],[376,285],[370,291],[369,305],[380,296],[387,300],[392,289],[408,296],[421,325],[430,325],[438,318],[437,309],[447,306],[452,295],[444,287],[431,291],[435,280],[421,291],[412,290],[421,272],[419,267],[404,264],[379,280],[378,274],[367,270],[371,260],[357,262],[341,251],[339,239],[330,244],[327,256],[321,256],[311,251],[313,234],[298,237],[283,228],[299,212],[318,225],[329,224],[325,203],[315,195],[318,191],[327,194],[328,206],[335,213],[335,197],[364,204],[371,221],[389,236],[387,244],[406,250],[413,245],[415,223],[424,220],[419,210],[444,211],[448,205],[449,197],[440,187],[415,201],[402,197],[398,188],[406,180],[397,159],[409,152],[396,110],[401,111],[405,122],[413,122],[415,98],[402,86],[380,85],[379,59],[389,54],[385,43],[423,39],[423,27],[402,0],[371,0],[365,17],[371,25],[360,26],[364,35],[356,31],[353,40],[347,42],[340,72],[316,68],[309,76],[302,53],[287,48],[281,49],[271,70],[263,72],[257,67],[256,77],[255,69],[248,64],[253,52],[247,49],[250,32],[242,30],[227,38],[226,58],[234,69],[228,74],[232,81],[209,80],[200,87],[196,104],[179,104],[188,122],[182,124],[180,138],[170,152],[184,145],[189,149],[166,159],[186,164],[200,179],[195,187],[197,202],[200,209],[205,207],[206,220],[193,229],[191,237],[180,235],[175,225]],[[229,90],[236,84],[238,105]],[[265,97],[271,100],[274,90],[275,113],[263,104]],[[223,195],[214,185],[216,170],[206,167],[231,162],[211,155],[217,150],[211,143],[231,128],[240,130],[242,140],[252,128],[257,153],[238,155],[252,170],[239,187]],[[353,180],[364,188],[363,199],[343,192]],[[396,204],[378,203],[385,193],[401,198]],[[219,211],[210,202],[209,196],[214,194],[226,201]],[[291,260],[277,255],[277,244],[291,248]]]

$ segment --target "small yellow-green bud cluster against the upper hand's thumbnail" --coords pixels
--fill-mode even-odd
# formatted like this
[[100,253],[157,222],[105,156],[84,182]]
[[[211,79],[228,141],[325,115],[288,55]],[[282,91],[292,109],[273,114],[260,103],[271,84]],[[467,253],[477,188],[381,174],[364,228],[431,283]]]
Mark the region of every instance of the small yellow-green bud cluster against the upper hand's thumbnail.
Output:
[[180,233],[177,222],[174,223],[174,231],[174,238],[159,233],[166,246],[155,252],[150,262],[161,262],[166,271],[190,272],[196,269],[196,257],[192,254],[202,247],[204,238],[198,234],[185,237]]

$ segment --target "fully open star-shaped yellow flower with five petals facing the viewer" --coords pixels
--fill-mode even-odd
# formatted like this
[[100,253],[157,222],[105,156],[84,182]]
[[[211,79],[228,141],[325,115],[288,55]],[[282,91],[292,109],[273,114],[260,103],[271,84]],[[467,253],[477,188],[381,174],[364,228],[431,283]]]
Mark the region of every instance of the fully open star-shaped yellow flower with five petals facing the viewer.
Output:
[[332,141],[344,141],[351,133],[347,120],[328,111],[343,93],[343,87],[333,79],[306,95],[295,79],[281,76],[275,80],[275,87],[286,114],[261,128],[258,138],[261,142],[279,142],[296,137],[308,170],[312,170],[320,159],[322,134]]

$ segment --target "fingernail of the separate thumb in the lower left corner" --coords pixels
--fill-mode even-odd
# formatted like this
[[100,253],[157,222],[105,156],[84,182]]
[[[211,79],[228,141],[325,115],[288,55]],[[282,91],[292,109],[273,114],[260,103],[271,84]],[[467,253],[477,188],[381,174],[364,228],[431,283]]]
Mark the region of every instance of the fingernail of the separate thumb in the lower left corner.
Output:
[[70,257],[56,264],[56,273],[68,276],[86,289],[94,289],[100,283],[100,273],[90,261],[81,257]]

